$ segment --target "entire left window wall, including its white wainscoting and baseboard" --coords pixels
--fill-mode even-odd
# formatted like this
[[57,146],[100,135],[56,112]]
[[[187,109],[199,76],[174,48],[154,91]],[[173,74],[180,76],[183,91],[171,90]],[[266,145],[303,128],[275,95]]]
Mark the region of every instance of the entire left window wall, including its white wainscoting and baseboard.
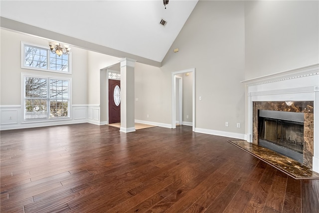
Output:
[[[48,46],[49,41],[22,33],[0,29],[0,124],[1,129],[16,129],[37,126],[50,126],[87,121],[87,50],[71,47],[72,74],[55,73],[21,68],[21,41]],[[71,118],[64,121],[28,122],[23,121],[21,103],[21,73],[60,76],[72,79]],[[11,118],[11,119],[8,119]]]

